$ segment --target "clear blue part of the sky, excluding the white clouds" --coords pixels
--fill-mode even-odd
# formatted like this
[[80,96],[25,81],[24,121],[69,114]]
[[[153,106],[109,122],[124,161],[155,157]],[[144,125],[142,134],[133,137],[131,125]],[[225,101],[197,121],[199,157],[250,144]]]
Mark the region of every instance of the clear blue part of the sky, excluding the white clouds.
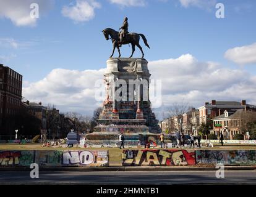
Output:
[[[220,64],[220,68],[249,73],[254,80],[256,61],[253,57],[244,62],[244,59],[236,60],[234,54],[230,58],[224,54],[228,49],[249,46],[250,54],[255,55],[252,44],[256,42],[256,1],[221,1],[225,18],[215,17],[215,5],[219,2],[215,0],[78,1],[91,6],[91,12],[80,18],[83,20],[80,22],[62,11],[65,6],[76,6],[77,1],[0,0],[0,63],[22,74],[25,87],[46,78],[56,68],[78,71],[105,68],[112,44],[105,40],[101,30],[108,27],[118,30],[125,16],[129,18],[130,32],[147,37],[151,49],[144,44],[142,47],[148,61],[190,54],[198,62],[211,61]],[[31,2],[39,4],[40,18],[19,23],[20,17],[29,14]],[[15,9],[17,15],[10,14]],[[124,57],[129,57],[130,52],[129,46],[121,49]],[[139,50],[134,56],[140,57]]]

